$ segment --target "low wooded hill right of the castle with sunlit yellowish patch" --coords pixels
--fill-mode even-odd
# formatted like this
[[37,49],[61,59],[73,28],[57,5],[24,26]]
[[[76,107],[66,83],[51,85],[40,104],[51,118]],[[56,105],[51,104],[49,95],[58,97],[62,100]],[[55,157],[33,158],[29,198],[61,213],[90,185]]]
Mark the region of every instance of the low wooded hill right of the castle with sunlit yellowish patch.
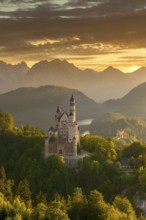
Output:
[[107,113],[96,118],[92,121],[89,130],[92,134],[104,137],[146,141],[146,120],[126,117],[120,113]]

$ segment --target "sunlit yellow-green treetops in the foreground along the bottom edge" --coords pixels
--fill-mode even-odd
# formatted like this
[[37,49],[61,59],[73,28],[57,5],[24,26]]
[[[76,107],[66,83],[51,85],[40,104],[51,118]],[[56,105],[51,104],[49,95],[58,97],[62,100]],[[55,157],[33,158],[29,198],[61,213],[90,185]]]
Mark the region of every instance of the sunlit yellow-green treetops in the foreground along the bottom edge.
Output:
[[112,205],[106,203],[102,194],[97,190],[90,191],[86,197],[81,188],[76,188],[68,199],[58,195],[48,204],[41,202],[36,206],[28,206],[19,196],[9,201],[0,192],[0,219],[134,220],[136,215],[126,198],[118,196]]

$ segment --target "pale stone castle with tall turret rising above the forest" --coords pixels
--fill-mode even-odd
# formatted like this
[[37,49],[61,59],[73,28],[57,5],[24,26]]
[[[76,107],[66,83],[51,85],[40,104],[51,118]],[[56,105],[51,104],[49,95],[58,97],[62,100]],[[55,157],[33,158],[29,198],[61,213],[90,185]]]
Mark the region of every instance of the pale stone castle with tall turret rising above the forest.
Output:
[[[45,158],[58,154],[64,157],[65,164],[76,167],[82,155],[77,154],[77,146],[80,145],[80,133],[76,120],[76,102],[74,96],[70,98],[69,114],[62,108],[57,107],[55,115],[55,128],[48,130],[48,138],[45,139]],[[51,141],[51,137],[54,140]]]

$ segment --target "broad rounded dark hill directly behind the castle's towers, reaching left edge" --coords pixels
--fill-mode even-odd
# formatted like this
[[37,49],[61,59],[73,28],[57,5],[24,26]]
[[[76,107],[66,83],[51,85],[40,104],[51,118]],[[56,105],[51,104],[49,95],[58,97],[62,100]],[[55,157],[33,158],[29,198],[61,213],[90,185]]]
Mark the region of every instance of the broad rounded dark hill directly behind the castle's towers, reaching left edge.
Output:
[[55,122],[57,106],[69,111],[69,99],[74,94],[77,119],[95,118],[98,104],[83,93],[56,86],[21,88],[0,95],[0,109],[10,112],[16,125],[32,124],[47,130]]

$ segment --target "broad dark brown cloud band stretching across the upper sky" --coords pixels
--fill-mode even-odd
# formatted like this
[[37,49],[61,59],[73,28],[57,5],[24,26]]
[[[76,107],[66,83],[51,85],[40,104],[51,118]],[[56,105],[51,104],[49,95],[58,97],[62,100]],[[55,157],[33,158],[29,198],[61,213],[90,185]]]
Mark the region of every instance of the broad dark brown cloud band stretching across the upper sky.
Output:
[[6,46],[6,44],[15,44],[16,40],[23,43],[44,38],[60,39],[77,36],[80,39],[78,44],[99,42],[130,48],[146,46],[146,14],[143,11],[134,15],[111,16],[108,19],[59,17],[51,19],[52,15],[47,16],[45,13],[42,15],[42,12],[32,10],[30,13],[32,17],[26,12],[26,18],[1,19],[1,44]]

